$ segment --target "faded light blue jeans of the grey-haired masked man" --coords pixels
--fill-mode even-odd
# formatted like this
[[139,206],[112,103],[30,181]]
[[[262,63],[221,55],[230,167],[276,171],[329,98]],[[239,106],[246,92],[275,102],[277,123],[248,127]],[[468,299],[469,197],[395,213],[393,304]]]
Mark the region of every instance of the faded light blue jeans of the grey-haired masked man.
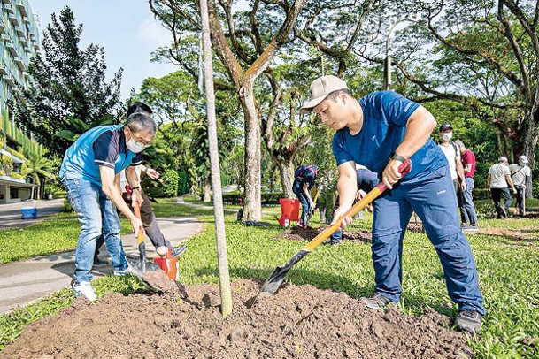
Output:
[[126,254],[119,236],[120,223],[116,207],[101,187],[86,179],[63,178],[67,197],[77,212],[81,233],[75,252],[74,284],[93,279],[92,265],[96,242],[101,233],[115,270],[127,270]]

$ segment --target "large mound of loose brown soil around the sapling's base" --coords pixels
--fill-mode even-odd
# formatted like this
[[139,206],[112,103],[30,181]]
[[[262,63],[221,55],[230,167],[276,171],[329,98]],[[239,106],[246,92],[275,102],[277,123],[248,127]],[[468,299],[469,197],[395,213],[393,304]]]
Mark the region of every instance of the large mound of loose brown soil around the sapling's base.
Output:
[[219,312],[218,286],[190,286],[189,299],[140,292],[78,299],[29,325],[9,358],[453,358],[466,336],[432,310],[409,317],[366,309],[346,294],[284,286],[250,307],[259,283],[233,283],[234,311]]

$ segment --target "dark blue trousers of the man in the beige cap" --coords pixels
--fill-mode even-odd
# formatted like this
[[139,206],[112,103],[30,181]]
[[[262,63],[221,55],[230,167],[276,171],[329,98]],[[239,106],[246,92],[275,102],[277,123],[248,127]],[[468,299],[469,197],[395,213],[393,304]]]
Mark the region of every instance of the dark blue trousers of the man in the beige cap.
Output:
[[374,202],[374,291],[393,302],[402,293],[403,239],[415,211],[435,246],[450,298],[459,310],[485,314],[472,249],[460,230],[457,196],[447,166],[399,183]]

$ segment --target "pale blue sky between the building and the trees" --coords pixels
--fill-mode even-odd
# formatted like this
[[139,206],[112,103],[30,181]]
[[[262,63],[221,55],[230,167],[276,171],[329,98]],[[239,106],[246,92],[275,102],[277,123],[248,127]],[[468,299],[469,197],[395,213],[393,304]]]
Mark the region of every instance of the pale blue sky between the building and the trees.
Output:
[[[161,77],[177,70],[172,64],[150,63],[150,54],[167,45],[171,34],[153,19],[147,0],[29,0],[41,29],[50,23],[50,15],[68,5],[77,24],[82,24],[81,48],[90,42],[104,47],[108,79],[120,67],[124,69],[121,95],[131,88],[138,91],[142,80]],[[42,33],[42,31],[41,31]]]

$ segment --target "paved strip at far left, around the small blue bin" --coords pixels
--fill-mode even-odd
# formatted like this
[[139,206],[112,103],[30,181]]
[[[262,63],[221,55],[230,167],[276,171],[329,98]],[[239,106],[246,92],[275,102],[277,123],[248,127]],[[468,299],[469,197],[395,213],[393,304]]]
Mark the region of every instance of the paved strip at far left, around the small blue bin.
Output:
[[22,219],[20,209],[28,206],[33,207],[34,202],[30,202],[30,205],[28,205],[26,202],[0,204],[0,229],[20,228],[27,225],[35,225],[37,222],[41,222],[44,218],[63,210],[64,200],[58,199],[50,201],[36,201],[35,207],[37,208],[37,218]]

